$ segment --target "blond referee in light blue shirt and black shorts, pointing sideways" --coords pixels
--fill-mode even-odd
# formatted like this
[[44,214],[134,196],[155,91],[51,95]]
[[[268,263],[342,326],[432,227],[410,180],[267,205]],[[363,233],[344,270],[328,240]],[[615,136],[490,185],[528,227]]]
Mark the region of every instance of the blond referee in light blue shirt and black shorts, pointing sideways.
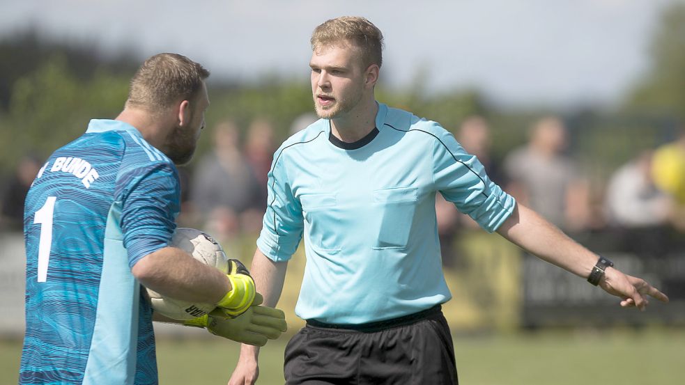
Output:
[[[275,306],[302,237],[307,264],[288,343],[294,384],[456,384],[440,304],[436,192],[488,232],[645,308],[667,301],[626,276],[491,182],[438,123],[376,102],[383,36],[367,19],[339,17],[311,37],[311,91],[321,118],[275,152],[268,209],[252,276]],[[229,384],[252,384],[259,348],[243,345]]]

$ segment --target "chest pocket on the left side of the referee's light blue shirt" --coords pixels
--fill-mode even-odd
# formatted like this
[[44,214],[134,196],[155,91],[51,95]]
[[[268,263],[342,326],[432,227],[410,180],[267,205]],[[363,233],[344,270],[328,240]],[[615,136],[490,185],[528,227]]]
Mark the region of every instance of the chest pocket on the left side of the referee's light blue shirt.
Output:
[[[307,194],[300,196],[305,221],[309,224],[309,241],[313,246],[325,251],[339,251],[335,234],[330,226],[335,222],[332,209],[337,204],[335,194]],[[306,236],[306,235],[305,235]]]

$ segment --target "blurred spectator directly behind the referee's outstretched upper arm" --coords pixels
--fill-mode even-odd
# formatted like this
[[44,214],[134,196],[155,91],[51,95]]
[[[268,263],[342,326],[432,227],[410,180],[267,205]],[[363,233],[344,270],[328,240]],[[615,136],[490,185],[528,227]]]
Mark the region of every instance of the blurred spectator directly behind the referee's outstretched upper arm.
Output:
[[[471,116],[463,121],[456,134],[456,140],[466,152],[475,155],[485,167],[488,177],[495,183],[500,182],[500,168],[491,157],[490,128],[481,116]],[[454,203],[445,201],[442,195],[436,196],[436,217],[438,237],[442,253],[442,265],[454,266],[457,253],[454,242],[462,228],[480,228],[468,215],[456,210]]]

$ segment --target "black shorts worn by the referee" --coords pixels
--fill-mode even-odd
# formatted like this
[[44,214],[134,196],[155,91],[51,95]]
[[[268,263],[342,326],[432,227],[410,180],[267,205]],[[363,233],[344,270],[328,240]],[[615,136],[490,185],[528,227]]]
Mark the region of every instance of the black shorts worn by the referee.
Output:
[[363,325],[308,321],[285,351],[287,385],[454,385],[456,363],[440,306]]

